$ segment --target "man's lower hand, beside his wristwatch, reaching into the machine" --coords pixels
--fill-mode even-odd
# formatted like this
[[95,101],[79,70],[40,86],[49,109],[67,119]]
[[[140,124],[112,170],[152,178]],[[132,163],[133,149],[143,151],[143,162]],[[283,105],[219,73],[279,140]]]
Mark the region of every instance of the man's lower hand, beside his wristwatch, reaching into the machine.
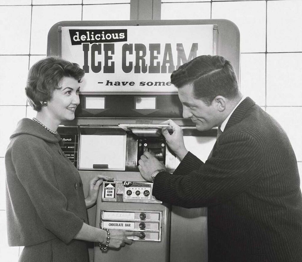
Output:
[[146,181],[151,180],[151,174],[157,169],[166,170],[166,167],[163,163],[159,162],[156,157],[151,155],[148,151],[145,151],[141,155],[140,160],[138,161],[138,169],[140,174]]

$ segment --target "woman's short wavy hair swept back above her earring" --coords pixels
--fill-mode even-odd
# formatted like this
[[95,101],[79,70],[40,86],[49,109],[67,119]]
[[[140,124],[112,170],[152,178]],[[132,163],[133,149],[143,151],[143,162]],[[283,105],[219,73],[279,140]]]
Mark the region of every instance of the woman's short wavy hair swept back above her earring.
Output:
[[25,93],[34,110],[42,109],[40,101],[50,101],[55,89],[60,89],[63,77],[72,77],[79,83],[85,71],[78,64],[59,57],[48,56],[36,62],[28,71]]

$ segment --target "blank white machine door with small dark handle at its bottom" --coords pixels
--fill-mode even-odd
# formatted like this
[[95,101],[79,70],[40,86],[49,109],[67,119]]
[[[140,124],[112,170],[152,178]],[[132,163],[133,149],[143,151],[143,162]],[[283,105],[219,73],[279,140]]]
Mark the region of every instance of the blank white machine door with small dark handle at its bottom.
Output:
[[92,169],[93,164],[108,165],[105,170],[125,170],[126,135],[81,135],[79,168]]

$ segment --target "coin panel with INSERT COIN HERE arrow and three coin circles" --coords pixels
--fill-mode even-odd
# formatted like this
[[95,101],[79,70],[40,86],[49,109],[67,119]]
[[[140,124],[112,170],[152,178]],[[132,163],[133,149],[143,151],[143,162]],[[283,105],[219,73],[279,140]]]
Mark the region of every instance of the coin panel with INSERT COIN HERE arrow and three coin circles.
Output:
[[162,203],[152,195],[153,183],[133,181],[103,182],[102,201],[131,203]]

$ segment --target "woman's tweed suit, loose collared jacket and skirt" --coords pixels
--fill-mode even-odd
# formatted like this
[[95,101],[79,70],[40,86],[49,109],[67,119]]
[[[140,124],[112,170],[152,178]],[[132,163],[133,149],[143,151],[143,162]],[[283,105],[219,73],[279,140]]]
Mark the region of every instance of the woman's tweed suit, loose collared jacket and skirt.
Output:
[[25,246],[19,261],[88,261],[79,172],[54,136],[31,119],[18,123],[5,155],[8,244]]

